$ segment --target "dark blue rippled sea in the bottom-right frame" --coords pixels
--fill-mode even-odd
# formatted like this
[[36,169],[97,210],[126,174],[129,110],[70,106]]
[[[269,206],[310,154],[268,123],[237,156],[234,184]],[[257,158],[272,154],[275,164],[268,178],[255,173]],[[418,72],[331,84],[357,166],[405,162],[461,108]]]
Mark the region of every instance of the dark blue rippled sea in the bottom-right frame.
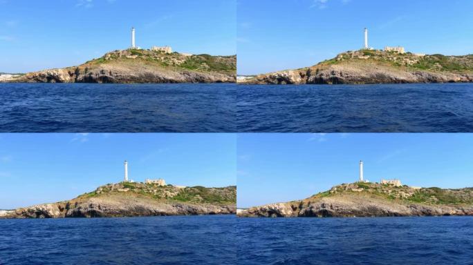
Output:
[[239,264],[473,264],[473,217],[239,218]]

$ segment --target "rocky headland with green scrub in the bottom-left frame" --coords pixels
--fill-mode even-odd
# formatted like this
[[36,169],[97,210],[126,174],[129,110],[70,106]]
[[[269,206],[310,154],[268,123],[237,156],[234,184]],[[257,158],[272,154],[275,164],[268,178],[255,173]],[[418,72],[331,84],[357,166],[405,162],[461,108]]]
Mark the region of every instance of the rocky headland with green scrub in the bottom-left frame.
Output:
[[0,212],[0,218],[133,217],[236,213],[236,187],[205,188],[120,183],[66,202]]

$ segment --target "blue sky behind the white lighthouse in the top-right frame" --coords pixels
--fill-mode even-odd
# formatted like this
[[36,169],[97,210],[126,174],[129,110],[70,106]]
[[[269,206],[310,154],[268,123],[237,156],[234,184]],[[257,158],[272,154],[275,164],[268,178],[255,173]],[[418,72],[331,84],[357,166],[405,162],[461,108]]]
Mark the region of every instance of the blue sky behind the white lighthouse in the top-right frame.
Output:
[[312,66],[363,45],[427,54],[473,53],[470,0],[239,0],[238,73]]

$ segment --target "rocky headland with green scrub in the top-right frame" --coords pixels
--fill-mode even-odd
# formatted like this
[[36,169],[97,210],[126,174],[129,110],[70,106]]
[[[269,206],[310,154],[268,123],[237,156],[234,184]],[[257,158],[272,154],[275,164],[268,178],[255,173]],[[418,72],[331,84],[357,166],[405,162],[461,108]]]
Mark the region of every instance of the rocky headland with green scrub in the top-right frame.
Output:
[[315,66],[241,79],[241,84],[400,84],[473,81],[473,55],[343,52]]

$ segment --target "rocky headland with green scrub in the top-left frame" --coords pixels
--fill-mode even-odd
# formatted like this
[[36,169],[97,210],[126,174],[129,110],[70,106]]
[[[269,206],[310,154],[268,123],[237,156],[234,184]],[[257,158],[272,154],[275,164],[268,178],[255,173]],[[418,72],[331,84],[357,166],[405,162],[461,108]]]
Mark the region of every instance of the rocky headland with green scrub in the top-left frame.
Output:
[[236,81],[236,56],[182,55],[115,50],[80,66],[30,72],[3,82],[228,83]]

